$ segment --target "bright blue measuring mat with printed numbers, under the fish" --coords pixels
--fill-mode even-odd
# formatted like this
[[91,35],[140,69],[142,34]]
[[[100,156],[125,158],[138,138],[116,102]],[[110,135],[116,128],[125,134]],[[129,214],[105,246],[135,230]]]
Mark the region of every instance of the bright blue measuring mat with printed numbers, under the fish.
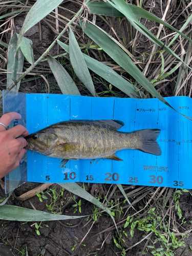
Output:
[[[19,97],[17,93],[15,98]],[[157,139],[162,151],[161,156],[138,150],[122,150],[115,154],[123,160],[120,162],[110,159],[70,160],[61,168],[59,165],[62,159],[28,151],[26,181],[80,181],[192,188],[192,121],[158,99],[94,98],[54,94],[22,94],[22,97],[26,97],[29,133],[56,122],[74,119],[121,120],[124,126],[118,131],[122,132],[161,130]],[[12,100],[15,104],[16,99]],[[179,96],[165,99],[178,112],[192,117],[191,98]],[[17,104],[14,111],[21,113],[24,110],[19,110]]]

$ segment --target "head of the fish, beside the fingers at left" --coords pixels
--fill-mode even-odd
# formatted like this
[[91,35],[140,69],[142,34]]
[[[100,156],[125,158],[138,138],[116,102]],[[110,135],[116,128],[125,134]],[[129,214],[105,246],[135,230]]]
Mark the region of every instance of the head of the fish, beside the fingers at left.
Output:
[[55,132],[49,131],[49,129],[32,133],[24,139],[27,141],[26,150],[35,151],[43,155],[50,155],[58,143],[58,136]]

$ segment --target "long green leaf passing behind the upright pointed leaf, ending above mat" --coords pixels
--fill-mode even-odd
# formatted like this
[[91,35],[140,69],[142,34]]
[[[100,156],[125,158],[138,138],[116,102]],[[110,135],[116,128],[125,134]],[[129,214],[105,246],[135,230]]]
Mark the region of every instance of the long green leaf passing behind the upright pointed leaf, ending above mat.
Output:
[[[64,44],[59,40],[57,42],[64,50],[66,50],[66,52],[69,53],[68,45]],[[133,85],[124,78],[122,78],[120,75],[118,75],[113,69],[84,53],[82,53],[82,56],[86,61],[88,68],[91,69],[93,72],[103,77],[106,81],[110,82],[111,84],[113,84],[113,86],[117,87],[119,90],[129,95],[130,97],[138,97]]]

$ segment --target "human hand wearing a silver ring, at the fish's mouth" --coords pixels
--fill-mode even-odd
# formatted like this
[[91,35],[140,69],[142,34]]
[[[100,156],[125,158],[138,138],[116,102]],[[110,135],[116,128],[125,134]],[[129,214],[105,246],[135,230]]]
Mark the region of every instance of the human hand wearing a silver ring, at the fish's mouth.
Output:
[[[21,116],[11,112],[1,117],[0,123],[8,126],[15,119],[21,119]],[[19,136],[28,135],[29,132],[23,125],[18,124],[6,131],[6,128],[0,124],[0,179],[19,166],[26,152],[24,147],[27,146],[27,141]]]

